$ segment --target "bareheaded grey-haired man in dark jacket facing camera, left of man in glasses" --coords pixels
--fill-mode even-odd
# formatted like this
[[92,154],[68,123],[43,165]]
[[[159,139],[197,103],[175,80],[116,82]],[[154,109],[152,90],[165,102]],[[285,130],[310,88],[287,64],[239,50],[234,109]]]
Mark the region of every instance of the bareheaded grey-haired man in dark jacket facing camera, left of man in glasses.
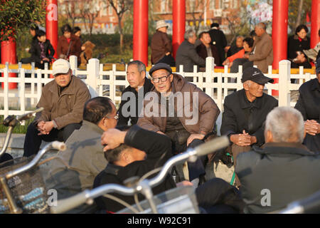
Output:
[[146,78],[146,66],[141,61],[128,63],[127,81],[130,86],[122,92],[118,125],[128,125],[129,120],[131,125],[138,122],[144,96],[153,87],[150,79]]

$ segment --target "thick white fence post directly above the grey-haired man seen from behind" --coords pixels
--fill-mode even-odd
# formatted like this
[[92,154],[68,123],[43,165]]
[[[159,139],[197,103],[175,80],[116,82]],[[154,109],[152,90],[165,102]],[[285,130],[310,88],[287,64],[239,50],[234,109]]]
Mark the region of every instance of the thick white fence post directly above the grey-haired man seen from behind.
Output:
[[290,107],[290,61],[279,61],[279,106]]

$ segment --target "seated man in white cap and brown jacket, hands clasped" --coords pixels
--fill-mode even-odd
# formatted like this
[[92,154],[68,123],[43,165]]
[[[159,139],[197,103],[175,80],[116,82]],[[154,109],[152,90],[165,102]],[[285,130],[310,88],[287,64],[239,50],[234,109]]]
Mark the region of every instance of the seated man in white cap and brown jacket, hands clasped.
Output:
[[64,141],[79,129],[85,102],[91,98],[85,83],[72,75],[70,63],[58,59],[53,63],[53,81],[43,87],[37,108],[43,107],[36,114],[33,123],[28,126],[23,146],[23,156],[28,157],[38,152],[42,140]]

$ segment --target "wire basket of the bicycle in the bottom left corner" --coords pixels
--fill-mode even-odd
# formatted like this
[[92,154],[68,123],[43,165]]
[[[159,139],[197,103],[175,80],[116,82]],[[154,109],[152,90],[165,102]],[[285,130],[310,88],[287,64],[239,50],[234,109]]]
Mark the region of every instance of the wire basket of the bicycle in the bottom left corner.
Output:
[[[23,165],[27,165],[32,157],[18,157],[14,160],[0,164],[0,175],[6,175],[7,172],[16,170]],[[13,165],[6,166],[7,163]],[[16,202],[16,205],[22,209],[23,214],[47,214],[49,207],[47,204],[46,185],[43,182],[43,177],[39,168],[32,167],[30,170],[16,175],[9,180],[6,180],[11,195]],[[6,192],[0,184],[0,214],[11,213],[9,202],[6,199]]]

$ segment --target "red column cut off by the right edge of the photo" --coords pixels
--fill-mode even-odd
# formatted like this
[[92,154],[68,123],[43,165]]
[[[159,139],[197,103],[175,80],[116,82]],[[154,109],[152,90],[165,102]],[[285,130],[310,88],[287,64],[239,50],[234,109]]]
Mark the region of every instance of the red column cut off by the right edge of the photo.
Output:
[[311,4],[311,37],[310,37],[310,48],[314,48],[316,43],[319,43],[319,28],[320,28],[320,1],[312,0]]

